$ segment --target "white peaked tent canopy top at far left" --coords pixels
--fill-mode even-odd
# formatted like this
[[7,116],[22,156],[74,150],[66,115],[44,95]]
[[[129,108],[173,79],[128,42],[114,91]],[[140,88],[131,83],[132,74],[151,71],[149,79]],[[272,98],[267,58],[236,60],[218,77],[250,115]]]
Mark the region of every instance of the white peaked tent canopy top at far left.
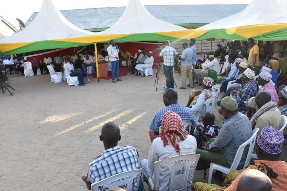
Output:
[[0,43],[34,42],[89,35],[94,33],[76,27],[54,8],[51,0],[43,0],[41,10],[33,21],[24,30],[1,39]]

